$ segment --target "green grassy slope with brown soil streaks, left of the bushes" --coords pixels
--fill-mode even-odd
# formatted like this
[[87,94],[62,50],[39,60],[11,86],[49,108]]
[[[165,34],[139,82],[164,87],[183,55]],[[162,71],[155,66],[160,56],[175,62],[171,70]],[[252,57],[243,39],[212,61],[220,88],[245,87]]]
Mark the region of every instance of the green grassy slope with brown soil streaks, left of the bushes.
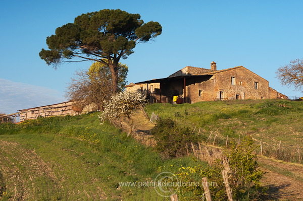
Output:
[[[97,113],[0,124],[1,200],[169,200],[153,187],[119,187],[149,181],[197,163],[162,160]],[[204,165],[204,164],[203,164]]]

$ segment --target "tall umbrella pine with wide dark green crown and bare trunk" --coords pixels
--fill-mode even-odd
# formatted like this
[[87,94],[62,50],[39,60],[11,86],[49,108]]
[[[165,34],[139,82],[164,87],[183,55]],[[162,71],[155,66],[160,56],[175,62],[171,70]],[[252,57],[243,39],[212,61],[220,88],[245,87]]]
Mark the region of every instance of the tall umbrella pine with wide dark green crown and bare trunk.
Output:
[[49,49],[42,49],[39,56],[55,68],[62,62],[105,63],[106,59],[117,88],[119,60],[133,53],[136,44],[153,40],[161,33],[158,22],[144,23],[139,14],[105,9],[82,14],[74,23],[58,27],[55,35],[46,38]]

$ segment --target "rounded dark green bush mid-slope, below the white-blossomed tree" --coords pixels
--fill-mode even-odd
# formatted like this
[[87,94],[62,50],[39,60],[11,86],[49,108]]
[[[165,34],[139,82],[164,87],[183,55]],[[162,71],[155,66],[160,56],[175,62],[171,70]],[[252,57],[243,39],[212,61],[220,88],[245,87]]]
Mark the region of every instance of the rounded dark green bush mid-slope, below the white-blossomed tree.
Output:
[[165,158],[180,157],[187,154],[187,146],[195,142],[192,129],[177,124],[172,119],[160,119],[151,129],[157,141],[156,150],[163,153]]

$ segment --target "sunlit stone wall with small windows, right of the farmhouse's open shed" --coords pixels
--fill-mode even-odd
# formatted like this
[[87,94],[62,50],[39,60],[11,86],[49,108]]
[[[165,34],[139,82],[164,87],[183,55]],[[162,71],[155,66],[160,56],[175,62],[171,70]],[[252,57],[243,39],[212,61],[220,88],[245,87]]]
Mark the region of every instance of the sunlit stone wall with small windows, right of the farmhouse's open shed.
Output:
[[[233,77],[233,81],[232,81]],[[256,87],[256,89],[255,89]],[[242,66],[222,70],[207,81],[187,86],[189,102],[233,99],[268,99],[268,81]]]

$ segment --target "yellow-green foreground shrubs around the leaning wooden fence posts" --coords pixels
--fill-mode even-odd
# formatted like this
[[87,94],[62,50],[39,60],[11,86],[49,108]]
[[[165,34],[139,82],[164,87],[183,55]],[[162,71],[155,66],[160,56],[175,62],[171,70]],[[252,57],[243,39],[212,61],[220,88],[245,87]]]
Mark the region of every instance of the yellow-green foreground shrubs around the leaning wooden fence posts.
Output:
[[[234,200],[257,200],[265,193],[266,188],[260,184],[264,172],[259,169],[254,141],[245,137],[239,145],[234,145],[227,155],[230,164],[229,184],[232,189]],[[227,200],[226,188],[223,184],[221,170],[224,169],[222,162],[218,162],[209,168],[201,166],[181,167],[176,173],[182,182],[201,182],[202,177],[207,177],[213,200]],[[204,184],[203,184],[204,185]],[[201,200],[203,198],[203,186],[180,187],[178,194],[182,200]]]

